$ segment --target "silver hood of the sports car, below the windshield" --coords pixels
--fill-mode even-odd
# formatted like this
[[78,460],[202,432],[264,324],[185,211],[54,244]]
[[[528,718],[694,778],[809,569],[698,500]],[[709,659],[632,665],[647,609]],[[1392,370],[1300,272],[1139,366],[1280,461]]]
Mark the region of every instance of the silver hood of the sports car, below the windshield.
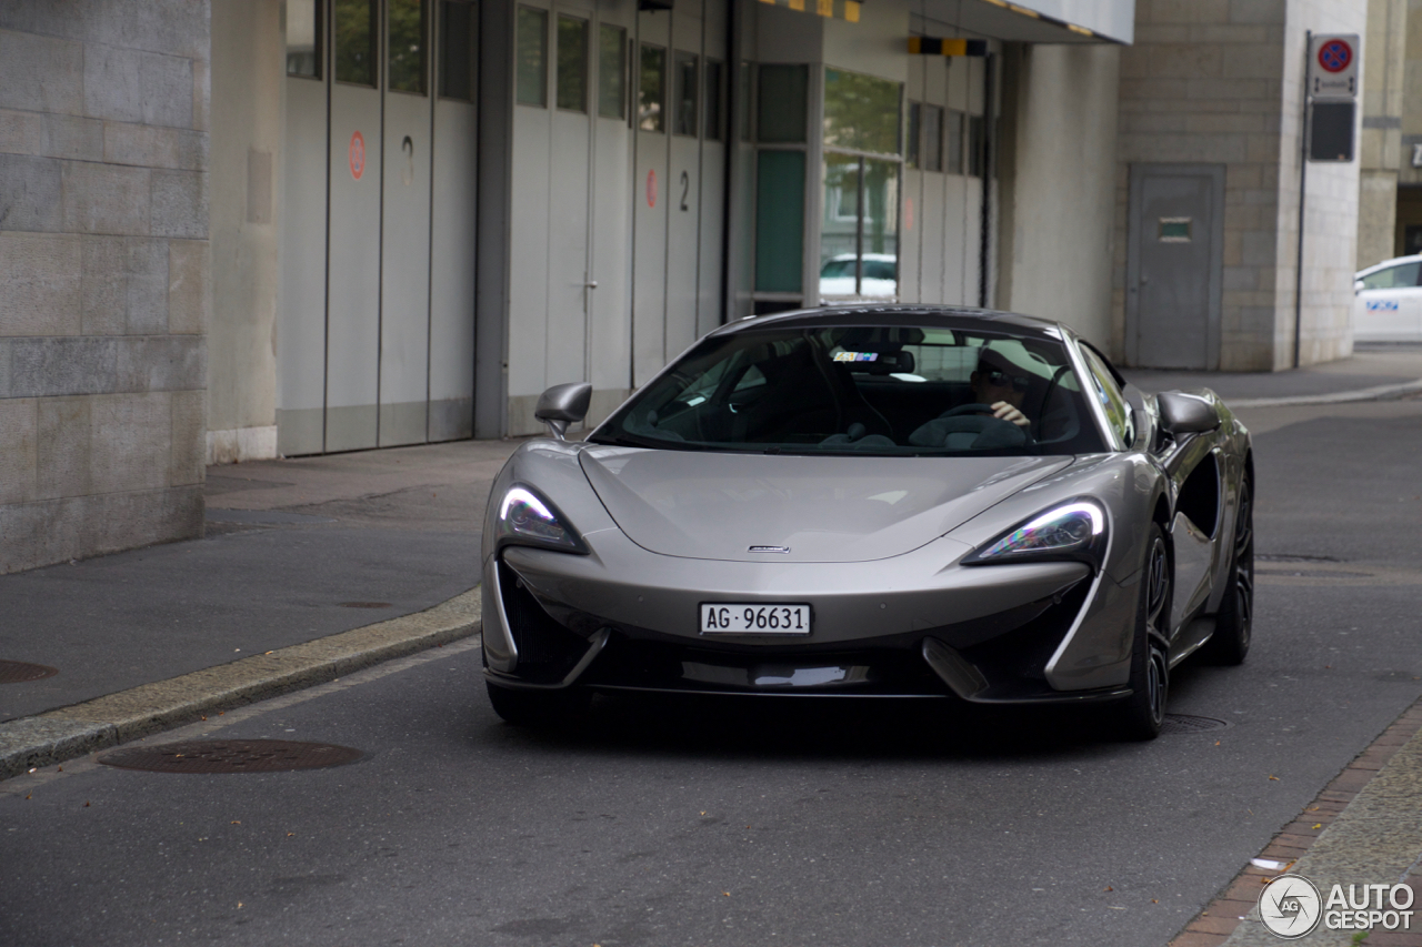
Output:
[[[1069,456],[857,458],[592,446],[580,462],[638,546],[737,562],[866,562],[943,536]],[[1004,528],[1011,523],[1004,523]],[[757,552],[782,546],[789,552]]]

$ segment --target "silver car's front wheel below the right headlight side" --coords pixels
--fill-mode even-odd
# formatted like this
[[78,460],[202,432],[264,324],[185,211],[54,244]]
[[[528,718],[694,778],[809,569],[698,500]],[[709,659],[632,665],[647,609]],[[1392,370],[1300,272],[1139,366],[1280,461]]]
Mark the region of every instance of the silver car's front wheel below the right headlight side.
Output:
[[1150,552],[1140,577],[1136,634],[1130,647],[1130,697],[1118,705],[1121,734],[1126,739],[1155,739],[1165,722],[1170,697],[1170,660],[1166,628],[1170,621],[1170,550],[1160,526],[1150,525]]

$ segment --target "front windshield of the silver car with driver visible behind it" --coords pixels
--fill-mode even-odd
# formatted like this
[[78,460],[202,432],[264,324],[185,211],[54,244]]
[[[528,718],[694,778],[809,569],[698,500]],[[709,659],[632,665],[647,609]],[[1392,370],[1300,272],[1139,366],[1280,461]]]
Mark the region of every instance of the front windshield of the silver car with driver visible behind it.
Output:
[[590,441],[879,456],[1106,449],[1061,341],[916,326],[704,338]]

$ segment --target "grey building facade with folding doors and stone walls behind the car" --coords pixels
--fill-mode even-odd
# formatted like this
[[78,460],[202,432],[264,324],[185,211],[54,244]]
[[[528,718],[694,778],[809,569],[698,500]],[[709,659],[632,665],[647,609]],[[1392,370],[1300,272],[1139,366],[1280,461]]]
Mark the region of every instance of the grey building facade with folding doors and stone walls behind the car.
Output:
[[565,381],[597,421],[826,301],[1138,365],[1347,354],[1358,162],[1308,172],[1300,269],[1301,71],[1365,14],[6,0],[0,569],[195,535],[205,459],[533,434]]

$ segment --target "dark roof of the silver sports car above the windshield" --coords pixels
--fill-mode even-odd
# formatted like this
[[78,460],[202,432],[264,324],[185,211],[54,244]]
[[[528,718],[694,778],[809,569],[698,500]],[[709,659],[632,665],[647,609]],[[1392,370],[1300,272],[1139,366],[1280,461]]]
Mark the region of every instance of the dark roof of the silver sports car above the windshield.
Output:
[[997,330],[1028,338],[1061,340],[1072,334],[1061,323],[971,306],[921,306],[913,303],[825,306],[771,316],[747,316],[722,326],[712,336],[759,328],[819,328],[825,326],[919,326],[921,328]]

